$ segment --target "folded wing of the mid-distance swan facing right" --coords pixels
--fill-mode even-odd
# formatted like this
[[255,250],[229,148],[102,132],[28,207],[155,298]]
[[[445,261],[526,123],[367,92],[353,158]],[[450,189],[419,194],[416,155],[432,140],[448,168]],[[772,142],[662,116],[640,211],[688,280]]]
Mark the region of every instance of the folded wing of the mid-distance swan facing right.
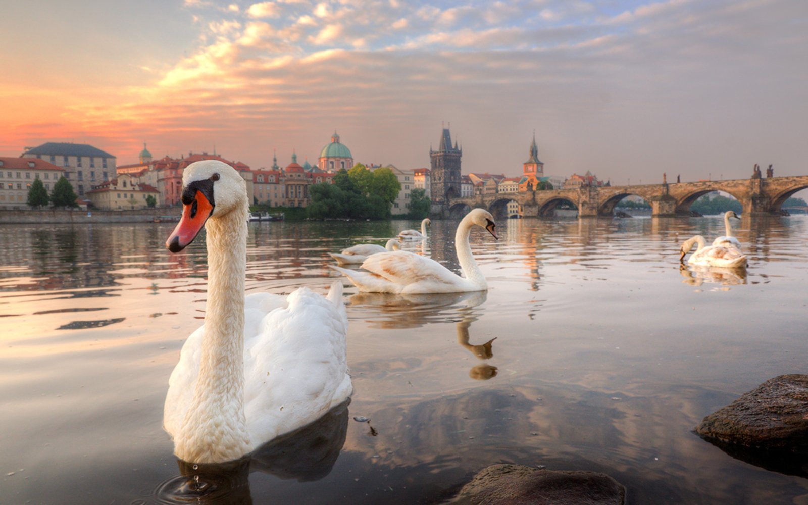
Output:
[[394,250],[370,255],[362,267],[395,284],[431,282],[456,284],[458,276],[434,259],[416,255],[406,250]]

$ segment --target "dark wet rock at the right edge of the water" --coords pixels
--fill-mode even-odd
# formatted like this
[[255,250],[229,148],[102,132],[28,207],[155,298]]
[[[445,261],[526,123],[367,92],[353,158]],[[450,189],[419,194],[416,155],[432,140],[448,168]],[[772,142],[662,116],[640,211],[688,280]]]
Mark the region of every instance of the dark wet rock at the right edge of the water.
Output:
[[808,375],[781,375],[705,417],[696,433],[774,451],[808,452]]

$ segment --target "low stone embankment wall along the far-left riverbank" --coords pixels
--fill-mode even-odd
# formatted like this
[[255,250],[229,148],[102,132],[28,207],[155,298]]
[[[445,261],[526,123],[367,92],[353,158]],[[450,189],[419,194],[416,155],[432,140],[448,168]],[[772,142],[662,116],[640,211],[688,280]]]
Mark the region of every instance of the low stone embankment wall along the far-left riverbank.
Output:
[[0,225],[145,223],[179,220],[179,208],[139,208],[137,210],[0,210]]

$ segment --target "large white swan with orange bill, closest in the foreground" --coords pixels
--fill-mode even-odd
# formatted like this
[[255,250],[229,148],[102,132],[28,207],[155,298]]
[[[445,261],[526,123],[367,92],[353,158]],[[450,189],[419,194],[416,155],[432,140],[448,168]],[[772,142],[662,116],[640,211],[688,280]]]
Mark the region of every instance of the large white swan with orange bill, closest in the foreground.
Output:
[[171,252],[208,231],[204,325],[183,345],[169,379],[163,426],[177,457],[236,460],[303,427],[351,394],[342,284],[328,297],[299,288],[288,297],[244,297],[247,196],[244,179],[205,160],[183,173],[183,216]]

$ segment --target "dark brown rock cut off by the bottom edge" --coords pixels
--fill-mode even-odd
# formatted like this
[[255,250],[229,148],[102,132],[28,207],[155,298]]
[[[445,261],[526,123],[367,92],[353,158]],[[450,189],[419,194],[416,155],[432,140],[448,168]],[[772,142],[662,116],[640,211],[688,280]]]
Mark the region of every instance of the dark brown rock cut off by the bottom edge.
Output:
[[475,475],[449,503],[622,505],[625,487],[603,473],[491,465]]

